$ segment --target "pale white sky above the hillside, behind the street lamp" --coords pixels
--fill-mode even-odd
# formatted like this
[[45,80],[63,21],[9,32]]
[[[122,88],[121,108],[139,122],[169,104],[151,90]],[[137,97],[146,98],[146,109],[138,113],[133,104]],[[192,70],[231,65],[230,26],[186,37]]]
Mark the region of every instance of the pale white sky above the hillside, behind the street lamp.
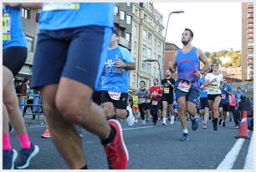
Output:
[[[194,33],[192,45],[202,51],[241,50],[242,47],[242,10],[241,3],[154,3],[163,15],[166,28],[170,17],[166,41],[182,48],[182,32],[191,28]],[[164,31],[165,33],[165,31]]]

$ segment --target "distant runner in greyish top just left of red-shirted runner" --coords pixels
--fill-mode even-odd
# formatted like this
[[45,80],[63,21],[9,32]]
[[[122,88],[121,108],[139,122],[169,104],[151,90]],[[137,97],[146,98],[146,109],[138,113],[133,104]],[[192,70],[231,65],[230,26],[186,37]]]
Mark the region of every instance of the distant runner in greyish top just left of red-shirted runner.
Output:
[[141,114],[141,124],[145,125],[146,124],[146,120],[145,120],[145,111],[146,111],[146,83],[145,81],[141,81],[140,83],[140,88],[138,89],[137,95],[139,97],[139,109],[140,109],[140,114]]

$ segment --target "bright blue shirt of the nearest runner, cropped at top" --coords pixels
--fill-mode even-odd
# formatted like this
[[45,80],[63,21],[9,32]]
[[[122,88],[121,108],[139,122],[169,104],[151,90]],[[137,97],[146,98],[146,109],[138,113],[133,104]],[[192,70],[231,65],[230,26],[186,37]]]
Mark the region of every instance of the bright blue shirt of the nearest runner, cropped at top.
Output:
[[114,3],[44,3],[40,30],[114,26]]

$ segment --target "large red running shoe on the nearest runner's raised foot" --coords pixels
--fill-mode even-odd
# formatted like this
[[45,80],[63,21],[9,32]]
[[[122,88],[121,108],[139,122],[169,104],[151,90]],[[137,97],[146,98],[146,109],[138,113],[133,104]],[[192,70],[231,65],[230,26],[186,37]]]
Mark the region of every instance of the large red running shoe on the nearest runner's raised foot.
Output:
[[127,169],[129,154],[123,139],[122,128],[115,119],[110,119],[109,124],[115,129],[115,138],[110,144],[104,146],[110,169]]

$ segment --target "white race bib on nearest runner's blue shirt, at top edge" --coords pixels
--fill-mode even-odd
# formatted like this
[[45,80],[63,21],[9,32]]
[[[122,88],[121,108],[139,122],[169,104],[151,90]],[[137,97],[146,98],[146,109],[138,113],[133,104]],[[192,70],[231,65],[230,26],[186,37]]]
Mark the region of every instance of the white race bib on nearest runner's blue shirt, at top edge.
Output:
[[43,11],[79,10],[79,3],[44,3]]

